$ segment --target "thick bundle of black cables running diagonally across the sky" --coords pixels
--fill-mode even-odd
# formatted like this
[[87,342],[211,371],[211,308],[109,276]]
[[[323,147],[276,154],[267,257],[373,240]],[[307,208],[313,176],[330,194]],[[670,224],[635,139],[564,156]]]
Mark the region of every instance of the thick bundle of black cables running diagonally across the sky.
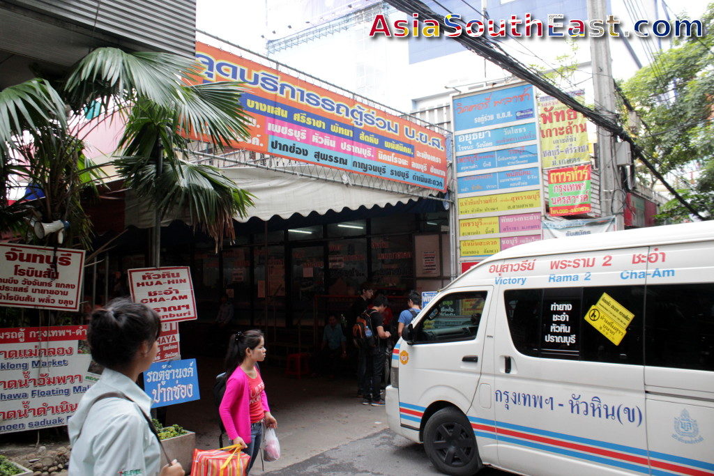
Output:
[[[416,13],[420,18],[436,21],[441,27],[441,29],[445,31],[454,31],[454,29],[444,23],[443,16],[438,16],[431,9],[429,9],[428,6],[426,6],[419,0],[386,0],[386,2],[394,8],[403,11],[407,14]],[[610,133],[613,133],[614,136],[630,143],[631,151],[635,154],[635,156],[640,159],[640,161],[642,161],[642,163],[645,164],[645,166],[647,166],[648,169],[650,169],[653,175],[663,183],[667,190],[672,193],[672,195],[678,201],[680,201],[680,203],[682,203],[683,206],[685,206],[688,211],[690,211],[690,213],[700,218],[701,220],[704,219],[703,216],[701,216],[700,213],[695,208],[693,208],[693,206],[690,205],[690,203],[685,201],[685,199],[680,196],[680,194],[672,186],[670,186],[667,181],[665,181],[665,178],[662,176],[662,174],[660,174],[655,169],[653,164],[645,156],[645,153],[642,148],[638,146],[638,143],[627,133],[627,131],[625,131],[625,129],[623,129],[622,126],[620,126],[620,124],[604,116],[599,111],[595,111],[592,108],[589,108],[588,106],[580,104],[574,98],[570,97],[568,93],[565,93],[565,91],[560,90],[560,88],[548,81],[548,79],[543,76],[543,74],[540,74],[537,71],[532,71],[526,65],[514,59],[512,56],[505,54],[502,51],[496,50],[496,48],[494,48],[491,42],[486,41],[481,37],[464,37],[463,35],[453,37],[453,40],[458,41],[458,43],[462,44],[463,46],[466,46],[467,49],[470,49],[479,56],[483,56],[486,59],[492,61],[493,63],[498,64],[498,66],[501,66],[501,68],[506,69],[506,71],[510,71],[511,74],[520,79],[523,79],[523,81],[533,84],[533,86],[540,89],[540,91],[543,91],[544,93],[553,96],[561,103],[572,108],[574,111],[582,113],[583,116],[590,119],[590,121],[592,121],[596,125],[605,128],[605,130],[607,131],[610,131]]]

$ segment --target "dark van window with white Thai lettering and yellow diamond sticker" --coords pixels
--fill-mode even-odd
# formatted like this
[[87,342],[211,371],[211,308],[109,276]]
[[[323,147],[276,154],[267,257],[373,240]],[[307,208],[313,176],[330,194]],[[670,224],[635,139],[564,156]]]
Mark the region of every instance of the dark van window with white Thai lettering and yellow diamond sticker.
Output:
[[[634,315],[617,345],[585,321],[593,306],[603,305],[603,295]],[[503,298],[513,345],[524,355],[643,363],[643,286],[506,290]]]

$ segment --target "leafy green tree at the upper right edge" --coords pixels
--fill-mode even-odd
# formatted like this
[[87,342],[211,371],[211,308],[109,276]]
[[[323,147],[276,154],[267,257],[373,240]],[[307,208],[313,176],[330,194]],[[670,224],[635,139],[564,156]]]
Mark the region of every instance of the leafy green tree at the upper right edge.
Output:
[[[676,40],[625,81],[623,91],[645,124],[638,138],[645,153],[670,181],[682,177],[675,188],[701,215],[714,218],[714,4],[702,22],[704,36]],[[660,220],[688,216],[673,202]]]

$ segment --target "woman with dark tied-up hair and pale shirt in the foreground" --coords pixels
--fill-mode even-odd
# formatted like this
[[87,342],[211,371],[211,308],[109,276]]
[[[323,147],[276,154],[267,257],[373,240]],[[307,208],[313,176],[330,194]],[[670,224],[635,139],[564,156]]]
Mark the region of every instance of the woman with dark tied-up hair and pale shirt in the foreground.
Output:
[[148,417],[151,398],[136,385],[156,358],[160,332],[153,309],[124,298],[92,313],[87,340],[104,371],[67,425],[70,475],[185,474],[176,460],[160,467],[161,444]]

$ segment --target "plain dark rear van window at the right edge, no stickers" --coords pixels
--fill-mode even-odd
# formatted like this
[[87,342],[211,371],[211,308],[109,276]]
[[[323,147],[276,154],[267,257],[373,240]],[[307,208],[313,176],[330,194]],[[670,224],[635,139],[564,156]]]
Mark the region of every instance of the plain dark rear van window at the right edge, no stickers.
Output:
[[714,371],[714,284],[649,285],[645,364]]

